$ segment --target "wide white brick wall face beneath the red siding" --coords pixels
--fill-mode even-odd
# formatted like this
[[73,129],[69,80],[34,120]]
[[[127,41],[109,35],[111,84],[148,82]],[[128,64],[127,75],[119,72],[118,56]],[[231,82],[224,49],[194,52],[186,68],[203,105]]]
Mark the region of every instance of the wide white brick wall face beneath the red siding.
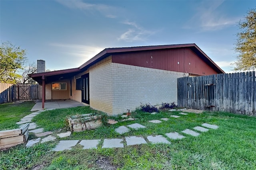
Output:
[[[112,63],[112,114],[134,110],[140,103],[177,102],[177,78],[183,72]],[[188,74],[185,74],[188,76]]]

